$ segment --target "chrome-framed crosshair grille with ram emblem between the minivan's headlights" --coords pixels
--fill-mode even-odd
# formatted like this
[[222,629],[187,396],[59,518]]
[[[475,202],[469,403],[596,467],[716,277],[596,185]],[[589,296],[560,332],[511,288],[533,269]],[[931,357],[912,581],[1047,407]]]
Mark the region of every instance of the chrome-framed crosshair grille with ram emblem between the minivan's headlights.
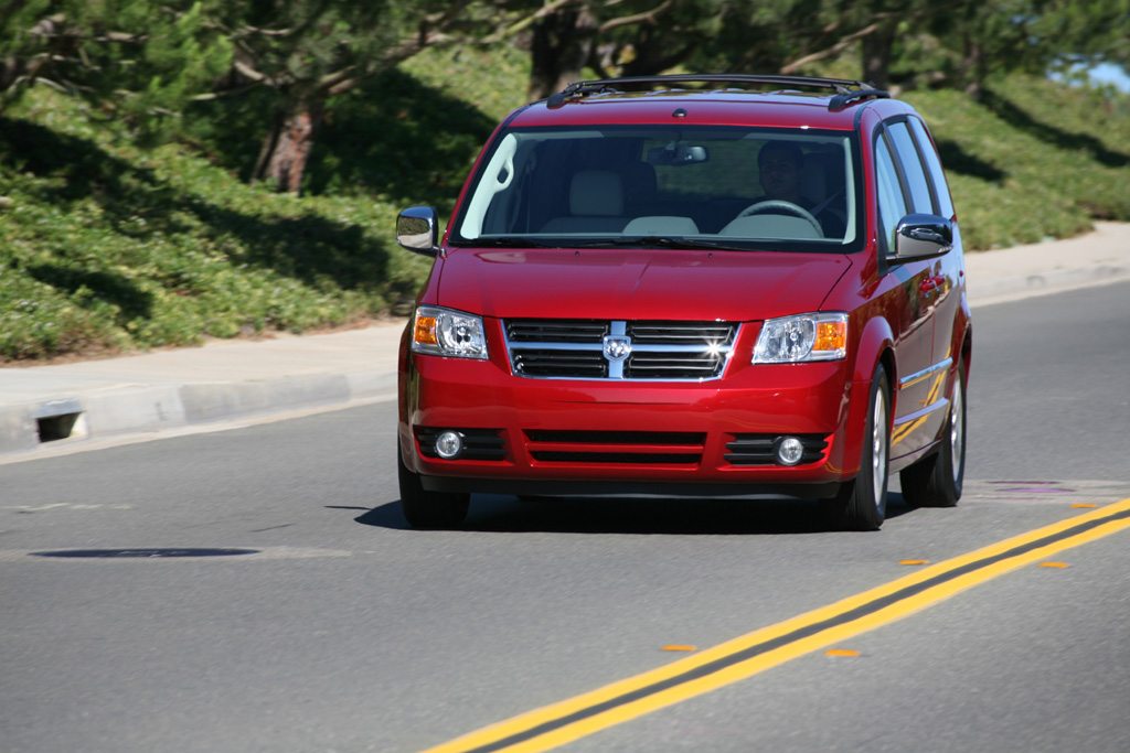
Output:
[[507,319],[504,325],[516,376],[641,382],[721,377],[739,329],[729,322],[626,319]]

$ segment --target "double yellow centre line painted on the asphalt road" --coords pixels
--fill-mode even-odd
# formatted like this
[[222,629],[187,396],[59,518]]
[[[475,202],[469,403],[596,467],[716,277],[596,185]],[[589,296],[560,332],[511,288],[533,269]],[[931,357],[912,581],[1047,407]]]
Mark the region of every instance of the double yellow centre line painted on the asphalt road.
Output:
[[669,665],[485,727],[425,753],[534,753],[745,680],[1130,527],[1130,499],[1008,539]]

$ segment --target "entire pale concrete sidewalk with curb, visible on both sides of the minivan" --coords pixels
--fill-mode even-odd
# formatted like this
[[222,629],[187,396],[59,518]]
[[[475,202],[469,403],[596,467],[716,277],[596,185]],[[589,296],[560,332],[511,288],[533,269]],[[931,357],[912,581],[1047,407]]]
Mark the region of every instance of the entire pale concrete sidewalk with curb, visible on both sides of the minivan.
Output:
[[[967,254],[970,303],[1130,280],[1130,224]],[[0,368],[0,463],[92,439],[392,400],[403,323],[101,361]]]

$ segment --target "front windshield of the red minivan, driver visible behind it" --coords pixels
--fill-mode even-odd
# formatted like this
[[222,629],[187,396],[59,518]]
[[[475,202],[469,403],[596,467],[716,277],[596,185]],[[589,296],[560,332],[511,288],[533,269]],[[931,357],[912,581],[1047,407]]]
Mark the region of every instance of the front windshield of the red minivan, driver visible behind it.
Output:
[[851,252],[855,143],[808,129],[511,128],[480,161],[450,243]]

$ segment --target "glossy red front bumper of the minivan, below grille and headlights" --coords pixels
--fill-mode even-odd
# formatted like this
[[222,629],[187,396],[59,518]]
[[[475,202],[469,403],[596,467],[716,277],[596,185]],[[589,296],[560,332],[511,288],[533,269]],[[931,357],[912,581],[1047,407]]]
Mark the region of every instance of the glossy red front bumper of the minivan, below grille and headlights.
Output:
[[[401,454],[432,491],[828,497],[859,469],[846,439],[863,436],[867,401],[851,397],[868,393],[851,373],[753,366],[739,350],[711,382],[531,379],[403,347]],[[432,441],[445,429],[489,450],[442,459]],[[783,436],[802,438],[799,464],[773,459]]]

